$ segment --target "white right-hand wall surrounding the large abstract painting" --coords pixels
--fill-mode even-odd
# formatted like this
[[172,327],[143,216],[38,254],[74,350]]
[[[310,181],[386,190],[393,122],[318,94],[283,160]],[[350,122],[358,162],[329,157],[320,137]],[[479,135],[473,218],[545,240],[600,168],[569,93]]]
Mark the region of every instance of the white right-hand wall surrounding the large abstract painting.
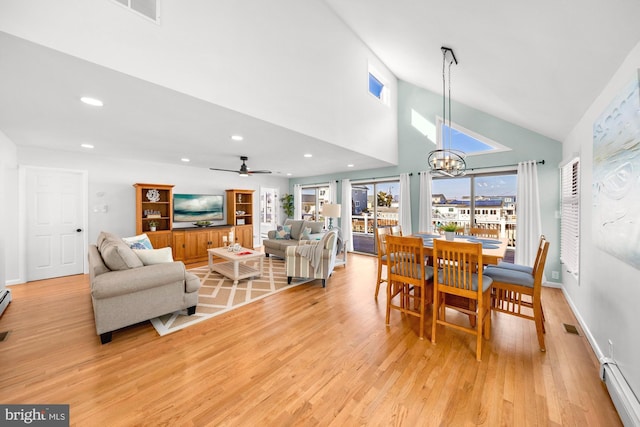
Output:
[[[564,274],[564,291],[577,311],[596,354],[609,354],[618,362],[629,385],[640,396],[640,340],[638,340],[638,301],[640,271],[596,247],[592,224],[593,123],[622,88],[638,76],[640,44],[587,110],[563,144],[565,159],[580,154],[580,275],[579,281]],[[640,118],[639,118],[640,119]],[[636,187],[636,190],[637,187]],[[638,221],[638,218],[635,218]],[[629,238],[632,238],[631,236]],[[635,242],[635,244],[640,244]]]

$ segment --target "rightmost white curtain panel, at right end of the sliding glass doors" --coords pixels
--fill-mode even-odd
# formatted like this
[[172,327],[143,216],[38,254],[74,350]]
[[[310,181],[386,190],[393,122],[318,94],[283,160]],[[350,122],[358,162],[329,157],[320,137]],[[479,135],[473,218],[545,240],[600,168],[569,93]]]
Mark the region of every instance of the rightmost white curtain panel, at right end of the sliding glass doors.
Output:
[[536,161],[518,163],[518,219],[516,220],[515,263],[533,266],[542,234],[538,165]]

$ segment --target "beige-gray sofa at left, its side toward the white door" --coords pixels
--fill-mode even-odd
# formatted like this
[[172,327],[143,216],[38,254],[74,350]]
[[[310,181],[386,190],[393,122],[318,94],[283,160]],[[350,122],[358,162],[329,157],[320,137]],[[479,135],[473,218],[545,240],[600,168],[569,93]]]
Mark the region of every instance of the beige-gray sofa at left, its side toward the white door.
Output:
[[88,256],[96,332],[103,344],[116,329],[178,310],[195,313],[200,279],[182,262],[144,265],[121,238],[105,232],[89,246]]

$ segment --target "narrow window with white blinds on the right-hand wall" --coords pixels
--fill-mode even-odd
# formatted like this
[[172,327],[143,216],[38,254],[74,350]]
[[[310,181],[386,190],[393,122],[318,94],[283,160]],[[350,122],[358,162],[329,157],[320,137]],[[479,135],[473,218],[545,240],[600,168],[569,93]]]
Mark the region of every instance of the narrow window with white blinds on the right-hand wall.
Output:
[[578,277],[580,255],[580,159],[561,167],[560,262]]

